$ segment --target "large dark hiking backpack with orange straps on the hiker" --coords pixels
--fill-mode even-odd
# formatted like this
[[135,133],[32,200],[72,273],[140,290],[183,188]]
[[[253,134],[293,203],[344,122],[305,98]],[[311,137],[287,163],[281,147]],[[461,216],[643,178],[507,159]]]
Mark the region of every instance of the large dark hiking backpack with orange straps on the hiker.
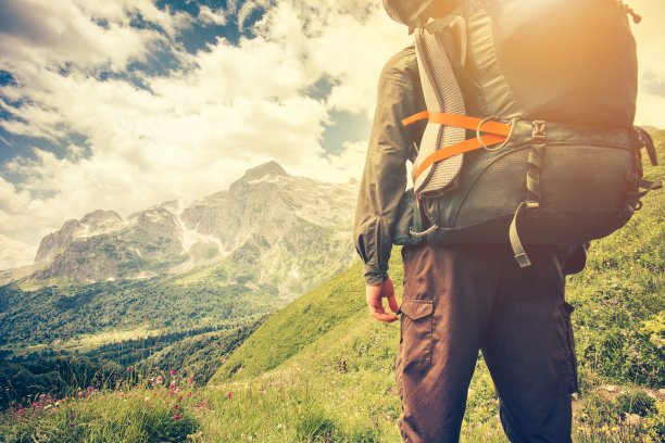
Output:
[[661,188],[642,179],[641,149],[657,161],[633,126],[639,16],[616,0],[448,3],[426,24],[417,1],[389,10],[411,18],[427,104],[402,122],[427,119],[401,244],[510,243],[525,267],[524,244],[624,226]]

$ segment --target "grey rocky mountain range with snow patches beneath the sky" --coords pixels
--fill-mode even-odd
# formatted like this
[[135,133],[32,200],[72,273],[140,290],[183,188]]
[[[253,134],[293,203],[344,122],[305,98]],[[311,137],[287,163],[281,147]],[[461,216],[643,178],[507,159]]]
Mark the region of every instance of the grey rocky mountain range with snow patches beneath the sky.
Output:
[[43,266],[33,278],[135,278],[225,261],[229,279],[300,292],[353,258],[356,187],[294,177],[268,162],[187,207],[166,202],[126,220],[112,211],[68,220],[42,239]]

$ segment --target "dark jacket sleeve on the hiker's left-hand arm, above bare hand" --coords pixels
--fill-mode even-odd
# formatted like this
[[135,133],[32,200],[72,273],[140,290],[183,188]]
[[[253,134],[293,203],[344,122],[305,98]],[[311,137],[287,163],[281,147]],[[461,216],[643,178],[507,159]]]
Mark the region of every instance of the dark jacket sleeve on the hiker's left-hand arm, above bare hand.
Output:
[[[399,216],[398,206],[406,188],[406,160],[413,141],[412,130],[401,121],[417,111],[422,94],[415,52],[402,51],[384,67],[363,177],[360,182],[353,239],[365,263],[367,284],[379,284],[388,277],[392,249],[391,228]],[[414,97],[415,96],[415,97]]]

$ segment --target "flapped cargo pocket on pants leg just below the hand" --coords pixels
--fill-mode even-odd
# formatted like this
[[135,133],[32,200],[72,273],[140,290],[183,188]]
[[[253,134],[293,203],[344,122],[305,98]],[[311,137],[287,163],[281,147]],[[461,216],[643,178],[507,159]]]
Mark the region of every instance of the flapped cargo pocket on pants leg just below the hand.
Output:
[[431,300],[403,300],[400,307],[400,341],[402,358],[431,363],[432,313]]

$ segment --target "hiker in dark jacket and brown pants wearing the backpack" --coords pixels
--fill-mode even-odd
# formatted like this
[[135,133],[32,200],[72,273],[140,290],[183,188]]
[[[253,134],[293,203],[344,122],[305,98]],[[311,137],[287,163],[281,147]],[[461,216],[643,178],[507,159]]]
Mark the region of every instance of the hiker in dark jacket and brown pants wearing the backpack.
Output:
[[[394,17],[394,2],[384,3]],[[406,24],[417,26],[449,9],[450,2],[427,2],[411,17],[415,23]],[[520,269],[507,244],[405,245],[403,301],[398,306],[388,260],[403,216],[405,163],[413,162],[411,147],[424,130],[424,125],[405,128],[400,122],[425,109],[415,49],[410,47],[388,61],[379,78],[354,225],[369,313],[380,321],[401,321],[396,362],[401,434],[407,442],[459,440],[481,350],[509,439],[570,441],[577,362],[564,275],[584,267],[584,249],[566,264],[562,251],[531,246],[532,266]]]

